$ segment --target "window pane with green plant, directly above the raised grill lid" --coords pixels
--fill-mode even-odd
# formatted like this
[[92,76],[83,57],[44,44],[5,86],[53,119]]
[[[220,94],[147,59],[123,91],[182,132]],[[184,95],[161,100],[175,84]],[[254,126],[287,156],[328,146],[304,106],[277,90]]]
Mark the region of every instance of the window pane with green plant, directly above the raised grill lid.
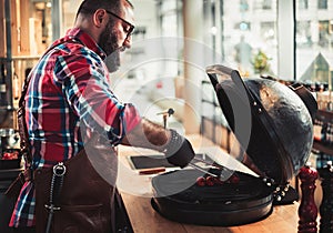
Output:
[[276,0],[224,0],[222,48],[225,62],[242,77],[278,73]]

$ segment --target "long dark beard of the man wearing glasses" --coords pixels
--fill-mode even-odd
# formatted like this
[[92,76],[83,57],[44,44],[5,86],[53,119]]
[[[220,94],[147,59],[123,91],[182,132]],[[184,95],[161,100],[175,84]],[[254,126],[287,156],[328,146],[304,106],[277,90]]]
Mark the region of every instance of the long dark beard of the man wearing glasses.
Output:
[[110,72],[114,72],[120,67],[120,48],[118,47],[118,33],[114,28],[114,23],[110,22],[105,27],[105,30],[101,33],[98,44],[107,53],[107,65]]

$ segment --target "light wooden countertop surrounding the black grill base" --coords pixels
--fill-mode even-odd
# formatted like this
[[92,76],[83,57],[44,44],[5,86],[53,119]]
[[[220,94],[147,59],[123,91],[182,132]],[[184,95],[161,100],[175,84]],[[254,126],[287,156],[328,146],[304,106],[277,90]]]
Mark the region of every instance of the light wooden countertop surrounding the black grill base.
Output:
[[[212,145],[212,143],[200,135],[186,136],[196,152],[202,145]],[[240,226],[201,226],[172,222],[151,206],[151,175],[139,175],[138,171],[131,168],[129,155],[150,154],[153,151],[137,150],[127,146],[119,148],[120,168],[118,186],[121,192],[124,205],[127,207],[132,227],[135,233],[155,233],[155,232],[297,232],[297,209],[299,203],[289,205],[279,205],[273,207],[273,212],[266,219]]]

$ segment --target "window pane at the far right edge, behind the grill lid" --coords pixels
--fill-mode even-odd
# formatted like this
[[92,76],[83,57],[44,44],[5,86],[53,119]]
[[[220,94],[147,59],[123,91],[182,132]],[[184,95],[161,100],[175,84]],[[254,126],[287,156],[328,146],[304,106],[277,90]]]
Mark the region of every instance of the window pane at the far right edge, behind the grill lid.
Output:
[[323,0],[317,4],[310,1],[309,8],[304,2],[296,1],[296,79],[331,87],[333,8]]

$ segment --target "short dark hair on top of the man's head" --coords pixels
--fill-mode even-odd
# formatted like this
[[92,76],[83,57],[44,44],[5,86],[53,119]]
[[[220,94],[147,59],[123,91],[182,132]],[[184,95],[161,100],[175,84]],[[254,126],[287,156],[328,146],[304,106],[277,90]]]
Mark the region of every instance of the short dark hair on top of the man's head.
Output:
[[[78,9],[77,17],[79,13],[92,14],[98,9],[105,9],[119,14],[121,11],[121,1],[122,0],[83,0]],[[133,9],[133,4],[129,0],[125,0],[125,2]]]

